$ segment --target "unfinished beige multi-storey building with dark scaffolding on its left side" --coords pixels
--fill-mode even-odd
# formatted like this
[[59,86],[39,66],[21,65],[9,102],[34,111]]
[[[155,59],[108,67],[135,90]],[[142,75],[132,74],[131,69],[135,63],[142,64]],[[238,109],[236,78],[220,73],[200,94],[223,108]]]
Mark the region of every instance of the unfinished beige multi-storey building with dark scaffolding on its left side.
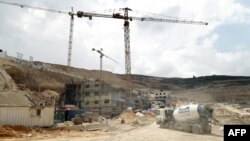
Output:
[[60,106],[76,105],[101,115],[117,115],[125,107],[125,91],[100,80],[65,84]]

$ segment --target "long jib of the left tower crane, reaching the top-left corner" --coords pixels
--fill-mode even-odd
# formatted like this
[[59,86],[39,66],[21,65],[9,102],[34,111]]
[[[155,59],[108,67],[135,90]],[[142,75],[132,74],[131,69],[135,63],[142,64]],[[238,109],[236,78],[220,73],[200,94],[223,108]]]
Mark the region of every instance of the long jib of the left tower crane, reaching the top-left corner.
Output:
[[49,9],[49,8],[43,8],[43,7],[36,7],[36,6],[30,6],[26,4],[19,4],[19,3],[14,3],[14,2],[6,2],[6,1],[0,1],[2,4],[7,4],[7,5],[13,5],[13,6],[20,6],[21,8],[33,8],[33,9],[38,9],[42,11],[49,11],[49,12],[55,12],[55,13],[62,13],[62,14],[69,14],[69,12],[65,11],[60,11],[60,10],[54,10],[54,9]]

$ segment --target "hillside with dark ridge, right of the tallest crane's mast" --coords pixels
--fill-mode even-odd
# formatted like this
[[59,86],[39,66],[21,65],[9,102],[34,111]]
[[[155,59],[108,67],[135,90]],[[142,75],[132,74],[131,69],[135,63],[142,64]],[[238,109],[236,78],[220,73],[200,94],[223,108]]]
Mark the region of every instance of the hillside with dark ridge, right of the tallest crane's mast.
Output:
[[169,90],[177,101],[250,102],[250,77],[212,75],[193,78],[163,78],[133,75],[134,82],[149,88]]

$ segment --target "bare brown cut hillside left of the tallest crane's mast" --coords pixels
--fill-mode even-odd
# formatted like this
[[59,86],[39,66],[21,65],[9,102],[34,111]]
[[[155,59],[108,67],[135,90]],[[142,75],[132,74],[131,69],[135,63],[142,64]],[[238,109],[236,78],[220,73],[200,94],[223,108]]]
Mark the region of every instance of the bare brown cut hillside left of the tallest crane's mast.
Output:
[[[67,67],[57,64],[34,62],[37,67],[27,67],[26,64],[17,64],[13,61],[0,59],[0,67],[12,77],[15,83],[25,89],[33,91],[54,90],[61,93],[64,84],[81,82],[86,79],[99,79],[100,72]],[[111,72],[103,71],[102,79],[111,85],[124,86],[125,81]],[[135,84],[136,87],[143,87]]]

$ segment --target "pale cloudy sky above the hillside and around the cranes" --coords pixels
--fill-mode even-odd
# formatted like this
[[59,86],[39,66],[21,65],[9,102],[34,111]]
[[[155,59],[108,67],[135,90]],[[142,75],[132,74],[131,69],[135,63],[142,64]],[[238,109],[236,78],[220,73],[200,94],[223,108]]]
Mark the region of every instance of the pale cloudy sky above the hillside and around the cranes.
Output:
[[[4,0],[1,0],[4,1]],[[131,72],[160,77],[250,75],[248,0],[5,0],[69,12],[208,22],[208,25],[130,22]],[[0,4],[0,49],[8,55],[67,65],[70,16]],[[125,73],[123,20],[74,20],[72,67]]]

